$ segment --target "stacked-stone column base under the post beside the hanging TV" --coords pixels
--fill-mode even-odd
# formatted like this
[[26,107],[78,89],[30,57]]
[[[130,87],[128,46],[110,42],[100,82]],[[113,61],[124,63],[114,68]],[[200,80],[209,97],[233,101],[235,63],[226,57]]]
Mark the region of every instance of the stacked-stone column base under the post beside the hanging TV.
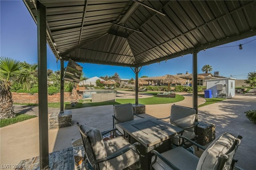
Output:
[[72,111],[54,112],[49,118],[49,129],[72,126]]

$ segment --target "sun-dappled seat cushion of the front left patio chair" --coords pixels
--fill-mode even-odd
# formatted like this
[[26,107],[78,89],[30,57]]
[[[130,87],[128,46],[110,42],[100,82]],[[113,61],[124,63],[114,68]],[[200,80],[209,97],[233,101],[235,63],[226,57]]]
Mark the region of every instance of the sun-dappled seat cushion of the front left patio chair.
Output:
[[[104,142],[106,147],[107,156],[110,156],[112,153],[116,152],[124,146],[130,146],[122,136],[106,140]],[[101,170],[122,170],[135,162],[140,160],[140,156],[137,154],[135,149],[128,150],[124,154],[104,162],[104,165],[100,163]]]

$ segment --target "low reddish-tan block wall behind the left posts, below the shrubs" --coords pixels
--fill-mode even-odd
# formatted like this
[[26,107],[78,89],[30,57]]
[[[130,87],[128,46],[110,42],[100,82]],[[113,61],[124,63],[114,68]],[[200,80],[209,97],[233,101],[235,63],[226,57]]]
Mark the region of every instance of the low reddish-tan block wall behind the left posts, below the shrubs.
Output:
[[[28,93],[12,93],[12,99],[14,103],[38,103],[38,93],[28,94]],[[79,96],[82,99],[82,95]],[[64,92],[64,101],[70,101],[70,93]],[[53,95],[48,95],[48,103],[60,102],[60,93]]]

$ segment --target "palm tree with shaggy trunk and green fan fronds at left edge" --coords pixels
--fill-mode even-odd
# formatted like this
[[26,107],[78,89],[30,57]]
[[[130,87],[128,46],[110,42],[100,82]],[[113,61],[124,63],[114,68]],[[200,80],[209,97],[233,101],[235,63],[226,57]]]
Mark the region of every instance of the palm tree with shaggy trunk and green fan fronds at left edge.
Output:
[[0,57],[0,119],[15,117],[10,85],[12,78],[22,75],[23,64],[8,57]]

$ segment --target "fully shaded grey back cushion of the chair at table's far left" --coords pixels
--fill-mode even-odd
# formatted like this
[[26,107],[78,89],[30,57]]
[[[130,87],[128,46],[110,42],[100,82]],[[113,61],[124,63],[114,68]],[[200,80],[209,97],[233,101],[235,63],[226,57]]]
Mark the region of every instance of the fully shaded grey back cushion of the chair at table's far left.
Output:
[[134,119],[131,103],[122,104],[122,105],[114,105],[114,113],[115,113],[116,119],[119,120],[119,121],[115,120],[116,124],[120,123],[120,121],[126,122],[126,121],[131,121]]

